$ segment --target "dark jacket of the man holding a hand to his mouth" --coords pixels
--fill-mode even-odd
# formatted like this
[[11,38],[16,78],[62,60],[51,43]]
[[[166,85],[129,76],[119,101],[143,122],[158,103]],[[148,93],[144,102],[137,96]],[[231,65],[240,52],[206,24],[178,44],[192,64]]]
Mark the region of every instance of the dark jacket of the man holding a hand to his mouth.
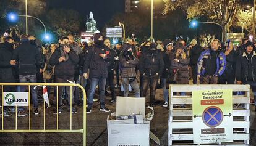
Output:
[[70,79],[75,76],[75,67],[77,63],[79,63],[79,57],[75,54],[75,51],[70,47],[70,51],[68,53],[69,59],[65,62],[59,62],[59,58],[61,57],[61,50],[58,48],[53,52],[51,58],[49,59],[49,64],[54,66],[54,75],[56,78],[62,79]]

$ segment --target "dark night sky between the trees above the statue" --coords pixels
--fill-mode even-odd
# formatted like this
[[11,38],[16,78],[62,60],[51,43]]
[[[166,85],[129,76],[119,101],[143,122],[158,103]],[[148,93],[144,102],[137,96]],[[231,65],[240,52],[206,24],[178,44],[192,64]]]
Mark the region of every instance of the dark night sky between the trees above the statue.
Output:
[[97,27],[101,28],[114,14],[124,12],[124,0],[48,0],[48,7],[67,8],[76,10],[86,20],[90,11],[97,22]]

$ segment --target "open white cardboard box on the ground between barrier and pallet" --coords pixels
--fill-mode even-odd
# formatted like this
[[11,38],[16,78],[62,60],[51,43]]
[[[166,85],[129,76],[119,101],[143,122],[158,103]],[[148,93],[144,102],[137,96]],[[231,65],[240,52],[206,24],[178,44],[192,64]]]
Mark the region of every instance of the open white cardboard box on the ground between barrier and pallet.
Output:
[[[119,115],[143,114],[145,117],[145,98],[127,98],[129,97],[117,97],[116,106],[119,108],[116,110],[121,111],[116,111],[116,113]],[[109,120],[108,117],[107,125],[109,146],[150,145],[150,121],[144,121],[144,124],[134,124],[133,119]]]

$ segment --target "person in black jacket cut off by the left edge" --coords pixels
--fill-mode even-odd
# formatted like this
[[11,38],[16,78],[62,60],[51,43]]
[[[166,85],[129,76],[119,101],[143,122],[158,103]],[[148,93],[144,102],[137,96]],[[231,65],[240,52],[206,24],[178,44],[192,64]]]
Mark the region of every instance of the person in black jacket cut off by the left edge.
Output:
[[[14,39],[6,37],[4,43],[0,46],[0,83],[15,83],[14,65],[16,65],[16,61],[12,60],[13,52]],[[15,86],[4,86],[4,92],[14,91]],[[4,116],[11,115],[8,108],[4,107]]]

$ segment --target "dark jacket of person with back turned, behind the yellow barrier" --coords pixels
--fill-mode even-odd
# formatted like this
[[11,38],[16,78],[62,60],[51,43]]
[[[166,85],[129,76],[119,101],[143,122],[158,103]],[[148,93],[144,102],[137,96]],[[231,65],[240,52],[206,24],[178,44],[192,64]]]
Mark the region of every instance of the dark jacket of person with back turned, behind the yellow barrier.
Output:
[[43,69],[43,59],[37,46],[23,41],[14,49],[12,60],[19,63],[19,75],[35,75],[37,68]]

